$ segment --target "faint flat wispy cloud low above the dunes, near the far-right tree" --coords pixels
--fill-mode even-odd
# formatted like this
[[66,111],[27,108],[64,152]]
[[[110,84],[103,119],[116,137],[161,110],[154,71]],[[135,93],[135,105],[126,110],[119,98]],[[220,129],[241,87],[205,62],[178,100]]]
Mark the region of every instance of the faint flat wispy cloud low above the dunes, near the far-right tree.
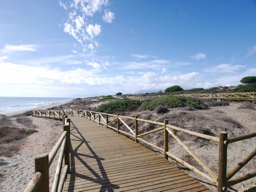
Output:
[[242,68],[245,68],[244,65],[230,65],[230,64],[220,64],[220,65],[216,65],[210,68],[206,68],[204,71],[206,72],[225,72],[225,73],[232,73],[235,71],[239,71]]

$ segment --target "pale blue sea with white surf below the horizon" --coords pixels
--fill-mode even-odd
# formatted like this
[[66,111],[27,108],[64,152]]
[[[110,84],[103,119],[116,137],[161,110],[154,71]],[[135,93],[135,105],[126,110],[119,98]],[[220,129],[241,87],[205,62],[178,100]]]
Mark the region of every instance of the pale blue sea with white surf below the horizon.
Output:
[[52,104],[60,104],[72,98],[61,97],[0,97],[0,114],[9,114]]

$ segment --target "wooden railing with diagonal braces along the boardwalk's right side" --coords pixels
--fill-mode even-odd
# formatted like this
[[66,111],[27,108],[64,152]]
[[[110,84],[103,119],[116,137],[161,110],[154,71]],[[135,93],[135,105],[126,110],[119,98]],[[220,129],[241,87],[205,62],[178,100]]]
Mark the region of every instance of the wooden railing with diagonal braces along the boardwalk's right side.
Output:
[[[238,161],[238,164],[227,173],[227,152],[228,152],[228,144],[232,142],[237,142],[245,139],[249,139],[256,136],[256,132],[252,132],[247,135],[242,135],[238,137],[231,137],[228,138],[228,133],[221,131],[219,133],[219,137],[210,136],[206,134],[201,134],[199,132],[186,130],[180,127],[176,127],[173,125],[170,125],[168,120],[164,120],[164,122],[156,122],[156,121],[150,121],[150,120],[144,120],[139,119],[136,115],[135,117],[129,117],[129,116],[122,116],[120,114],[114,115],[104,112],[96,112],[96,111],[89,111],[89,110],[63,110],[63,112],[66,112],[66,115],[76,115],[81,117],[86,117],[87,119],[90,119],[94,122],[99,123],[100,125],[104,125],[107,128],[111,128],[117,133],[124,134],[128,137],[131,137],[131,139],[134,139],[136,142],[142,142],[145,145],[148,145],[152,147],[153,149],[159,150],[163,152],[163,155],[166,159],[170,157],[171,159],[177,161],[181,165],[184,165],[186,168],[190,169],[191,171],[194,171],[196,174],[200,175],[204,179],[208,180],[211,184],[218,187],[218,192],[224,192],[227,190],[228,187],[238,184],[242,181],[248,180],[250,178],[253,178],[256,176],[256,171],[252,171],[252,173],[248,173],[244,176],[240,176],[238,178],[232,179],[235,174],[238,173],[240,169],[243,168],[245,164],[247,164],[253,157],[256,155],[256,149],[254,149],[250,154],[241,161]],[[40,114],[43,112],[40,111]],[[33,114],[39,114],[39,111],[33,111]],[[43,113],[44,114],[44,113]],[[50,112],[48,111],[46,117],[52,118],[50,116]],[[54,112],[52,112],[54,114]],[[43,116],[43,115],[35,115],[35,116]],[[132,120],[132,125],[129,126],[125,121]],[[147,124],[153,124],[157,127],[154,130],[142,132],[139,134],[139,122],[140,123],[147,123]],[[121,126],[126,127],[127,131],[120,130]],[[142,139],[142,136],[152,134],[157,131],[163,131],[164,132],[164,147],[161,148],[159,146],[156,146],[154,144],[151,144],[150,142],[145,141]],[[175,132],[183,132],[185,134],[193,135],[196,137],[200,137],[201,139],[210,140],[213,142],[218,142],[219,145],[219,159],[218,159],[218,173],[215,173],[215,171],[211,170],[208,165],[204,163],[203,160],[200,159],[190,148],[187,146],[178,135],[175,134]],[[205,170],[205,173],[203,171],[200,171],[199,169],[196,169],[193,165],[190,165],[189,163],[185,162],[184,160],[180,159],[179,157],[175,156],[171,152],[169,152],[169,136],[172,136],[176,141],[179,142],[181,146],[194,158],[194,160],[197,161],[197,163]],[[171,150],[170,150],[171,151]],[[207,174],[206,174],[207,173]]]

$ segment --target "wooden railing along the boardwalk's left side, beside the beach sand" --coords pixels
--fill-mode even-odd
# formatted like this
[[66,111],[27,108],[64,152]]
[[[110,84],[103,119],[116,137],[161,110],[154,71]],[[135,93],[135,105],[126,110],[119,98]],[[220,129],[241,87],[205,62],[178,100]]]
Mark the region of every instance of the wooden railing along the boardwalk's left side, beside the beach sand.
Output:
[[[49,191],[49,168],[58,151],[60,154],[51,191],[62,191],[67,174],[70,173],[70,119],[67,119],[67,115],[60,110],[33,111],[33,116],[37,117],[55,117],[55,115],[59,120],[62,120],[63,134],[49,154],[41,154],[35,158],[35,175],[24,192]],[[65,160],[64,166],[62,166],[63,159]],[[63,173],[61,175],[62,167]]]

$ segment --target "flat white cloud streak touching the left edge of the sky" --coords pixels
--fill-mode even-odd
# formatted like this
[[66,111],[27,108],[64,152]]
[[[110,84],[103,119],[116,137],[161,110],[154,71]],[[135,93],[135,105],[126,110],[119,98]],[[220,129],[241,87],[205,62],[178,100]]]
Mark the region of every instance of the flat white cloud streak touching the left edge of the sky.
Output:
[[36,51],[38,45],[5,45],[0,53],[10,54],[19,51]]

